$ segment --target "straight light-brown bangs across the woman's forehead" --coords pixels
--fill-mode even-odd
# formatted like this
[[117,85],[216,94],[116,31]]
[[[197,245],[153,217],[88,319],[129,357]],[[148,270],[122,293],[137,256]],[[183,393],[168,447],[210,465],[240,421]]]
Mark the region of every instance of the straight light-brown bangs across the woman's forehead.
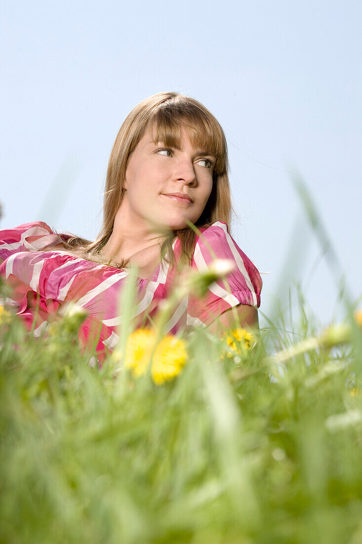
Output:
[[148,127],[154,135],[154,143],[162,142],[168,147],[181,147],[182,128],[185,128],[192,147],[213,155],[216,159],[214,172],[226,170],[227,146],[219,123],[190,103],[161,104],[154,113]]

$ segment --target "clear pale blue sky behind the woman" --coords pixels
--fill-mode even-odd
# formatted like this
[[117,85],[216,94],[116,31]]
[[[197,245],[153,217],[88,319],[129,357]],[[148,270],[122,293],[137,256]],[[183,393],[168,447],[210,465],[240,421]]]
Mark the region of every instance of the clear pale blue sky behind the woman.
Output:
[[357,300],[359,0],[2,5],[0,228],[41,220],[94,239],[109,153],[124,118],[150,95],[183,92],[201,101],[226,134],[238,213],[231,232],[267,273],[260,324],[279,296],[287,307],[295,282],[322,323],[343,315],[339,270],[311,231],[294,171]]

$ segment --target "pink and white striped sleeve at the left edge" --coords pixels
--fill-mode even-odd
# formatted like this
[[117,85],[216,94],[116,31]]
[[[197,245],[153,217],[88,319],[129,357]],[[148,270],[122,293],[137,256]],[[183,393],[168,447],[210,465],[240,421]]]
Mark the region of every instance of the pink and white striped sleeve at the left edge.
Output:
[[51,227],[43,221],[34,221],[32,223],[24,223],[14,228],[5,228],[0,230],[0,257],[7,259],[10,255],[14,255],[20,251],[35,250],[45,245],[42,239],[49,235],[56,236],[51,230]]

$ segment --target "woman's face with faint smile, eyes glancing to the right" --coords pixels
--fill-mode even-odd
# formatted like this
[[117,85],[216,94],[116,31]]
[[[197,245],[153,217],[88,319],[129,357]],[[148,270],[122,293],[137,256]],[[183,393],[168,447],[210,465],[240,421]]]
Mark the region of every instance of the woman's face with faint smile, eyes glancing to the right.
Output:
[[184,127],[181,149],[165,149],[152,136],[147,131],[129,157],[122,205],[135,224],[150,220],[171,230],[185,228],[185,219],[195,223],[208,201],[216,158],[194,149]]

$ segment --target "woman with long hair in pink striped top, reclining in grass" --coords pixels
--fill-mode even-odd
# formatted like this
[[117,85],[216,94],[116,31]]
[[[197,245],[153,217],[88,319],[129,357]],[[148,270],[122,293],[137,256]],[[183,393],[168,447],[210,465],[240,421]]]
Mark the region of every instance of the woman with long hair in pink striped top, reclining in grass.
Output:
[[14,286],[8,303],[39,336],[49,314],[77,301],[89,314],[79,338],[86,343],[99,336],[96,351],[103,360],[118,341],[117,301],[128,266],[138,267],[135,326],[147,326],[183,265],[202,270],[214,257],[229,258],[235,262],[226,278],[230,289],[218,281],[202,299],[189,294],[166,329],[202,325],[216,332],[219,321],[233,326],[235,309],[242,326],[258,326],[262,282],[228,232],[231,211],[219,122],[194,98],[153,95],[129,113],[117,134],[95,242],[42,221],[0,232],[0,275]]

